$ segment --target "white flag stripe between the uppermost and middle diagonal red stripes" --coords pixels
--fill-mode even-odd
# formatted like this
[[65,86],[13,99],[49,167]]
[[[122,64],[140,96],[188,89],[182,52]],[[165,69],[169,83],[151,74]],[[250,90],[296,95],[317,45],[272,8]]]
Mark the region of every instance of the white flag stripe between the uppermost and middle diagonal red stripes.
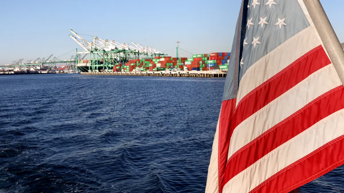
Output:
[[[342,85],[332,64],[314,72],[296,86],[241,122],[230,139],[228,159],[240,148],[259,137],[322,94]],[[291,105],[292,104],[292,105]]]

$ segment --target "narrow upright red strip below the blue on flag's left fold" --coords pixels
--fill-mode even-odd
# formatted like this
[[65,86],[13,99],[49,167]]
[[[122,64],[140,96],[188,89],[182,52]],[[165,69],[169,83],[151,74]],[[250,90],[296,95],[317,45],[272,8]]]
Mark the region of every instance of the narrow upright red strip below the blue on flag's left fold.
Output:
[[[226,100],[222,102],[219,129],[218,129],[218,182],[219,182],[219,193],[222,192],[224,186],[224,172],[227,162],[227,155],[229,149],[230,137],[232,136],[233,130],[229,129],[230,121],[233,118],[235,110],[236,99]],[[229,138],[228,138],[229,137]]]

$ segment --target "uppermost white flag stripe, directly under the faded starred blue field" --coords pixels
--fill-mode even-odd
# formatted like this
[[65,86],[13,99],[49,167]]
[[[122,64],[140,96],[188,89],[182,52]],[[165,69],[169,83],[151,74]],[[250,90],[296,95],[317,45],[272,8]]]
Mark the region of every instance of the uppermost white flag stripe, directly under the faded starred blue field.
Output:
[[320,44],[312,27],[307,27],[262,57],[241,78],[236,106],[249,92]]

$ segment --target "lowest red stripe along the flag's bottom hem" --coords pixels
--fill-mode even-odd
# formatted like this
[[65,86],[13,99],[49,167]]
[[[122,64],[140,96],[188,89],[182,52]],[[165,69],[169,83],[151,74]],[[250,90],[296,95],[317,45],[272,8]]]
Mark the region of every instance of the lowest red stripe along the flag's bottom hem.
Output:
[[344,135],[284,168],[250,191],[250,193],[271,192],[271,190],[273,192],[287,193],[307,184],[341,166],[344,163],[343,148]]

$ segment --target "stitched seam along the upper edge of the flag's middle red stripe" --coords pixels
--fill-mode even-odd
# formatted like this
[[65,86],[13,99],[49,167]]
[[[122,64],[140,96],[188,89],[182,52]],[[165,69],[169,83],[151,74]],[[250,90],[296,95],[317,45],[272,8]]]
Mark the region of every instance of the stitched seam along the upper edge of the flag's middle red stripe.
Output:
[[235,154],[233,154],[227,161],[227,164],[230,160],[232,160],[234,158],[234,156],[236,156],[237,154],[239,154],[241,151],[244,151],[247,147],[249,147],[250,145],[252,145],[253,143],[255,143],[257,140],[259,140],[260,138],[264,137],[265,135],[269,134],[270,132],[272,132],[273,130],[275,130],[278,126],[282,125],[283,123],[289,121],[290,119],[292,119],[293,117],[295,117],[296,115],[302,113],[305,109],[307,109],[307,107],[311,106],[313,103],[319,101],[320,99],[324,98],[325,96],[339,90],[342,89],[343,85],[338,86],[334,89],[332,89],[329,92],[326,92],[325,94],[321,95],[320,97],[318,97],[316,100],[313,100],[312,102],[308,103],[306,106],[302,107],[302,109],[300,109],[299,111],[295,112],[294,114],[290,115],[288,118],[286,118],[285,120],[281,121],[280,123],[278,123],[277,125],[271,127],[269,130],[267,130],[265,133],[261,134],[259,137],[257,137],[256,139],[254,139],[253,141],[251,141],[249,144],[245,145],[244,147],[242,147],[241,149],[239,149],[237,152],[235,152]]

